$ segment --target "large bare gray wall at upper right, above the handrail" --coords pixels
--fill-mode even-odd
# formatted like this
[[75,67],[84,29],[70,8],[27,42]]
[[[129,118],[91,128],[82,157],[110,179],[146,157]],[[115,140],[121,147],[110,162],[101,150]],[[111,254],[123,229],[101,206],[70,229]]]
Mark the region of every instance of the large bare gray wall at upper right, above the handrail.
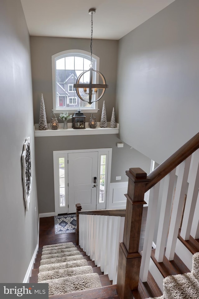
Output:
[[159,164],[198,132],[198,12],[176,0],[119,40],[120,138]]

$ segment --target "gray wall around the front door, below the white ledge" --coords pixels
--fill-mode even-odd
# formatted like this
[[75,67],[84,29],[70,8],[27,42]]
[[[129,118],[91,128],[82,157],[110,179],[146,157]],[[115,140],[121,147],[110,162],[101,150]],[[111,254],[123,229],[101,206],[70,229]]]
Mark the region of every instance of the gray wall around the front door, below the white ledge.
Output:
[[[39,213],[55,211],[53,150],[112,148],[111,183],[127,181],[125,171],[130,167],[141,167],[149,173],[150,159],[127,144],[118,148],[118,142],[121,140],[117,134],[35,137]],[[121,176],[121,181],[115,181],[116,176]]]

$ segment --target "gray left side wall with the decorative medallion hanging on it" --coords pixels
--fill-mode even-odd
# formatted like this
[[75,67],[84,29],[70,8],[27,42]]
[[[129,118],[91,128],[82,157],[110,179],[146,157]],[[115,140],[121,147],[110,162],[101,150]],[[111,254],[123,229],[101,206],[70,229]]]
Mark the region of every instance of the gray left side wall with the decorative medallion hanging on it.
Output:
[[[23,282],[38,240],[30,42],[20,0],[0,1],[0,282]],[[21,155],[32,150],[32,192],[25,211]]]

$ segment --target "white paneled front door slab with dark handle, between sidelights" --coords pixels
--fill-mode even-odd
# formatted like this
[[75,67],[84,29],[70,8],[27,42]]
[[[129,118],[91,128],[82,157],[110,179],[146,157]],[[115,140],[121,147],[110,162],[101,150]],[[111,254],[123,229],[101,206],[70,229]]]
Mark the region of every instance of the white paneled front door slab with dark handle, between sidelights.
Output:
[[[68,154],[68,213],[96,210],[98,152]],[[95,178],[95,179],[94,179]]]

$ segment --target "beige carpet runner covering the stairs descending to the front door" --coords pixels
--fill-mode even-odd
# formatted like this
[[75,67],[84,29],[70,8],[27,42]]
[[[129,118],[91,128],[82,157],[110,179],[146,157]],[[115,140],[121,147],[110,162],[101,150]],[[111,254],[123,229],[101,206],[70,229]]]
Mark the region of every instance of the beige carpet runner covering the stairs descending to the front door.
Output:
[[49,296],[102,287],[99,275],[71,242],[43,246],[38,283],[49,284]]

